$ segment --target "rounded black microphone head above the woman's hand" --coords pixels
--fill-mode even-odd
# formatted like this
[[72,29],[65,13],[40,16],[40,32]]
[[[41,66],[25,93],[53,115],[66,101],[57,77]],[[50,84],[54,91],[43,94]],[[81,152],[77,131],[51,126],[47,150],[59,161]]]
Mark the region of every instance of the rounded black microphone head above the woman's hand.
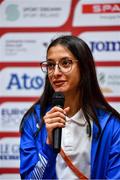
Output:
[[62,92],[55,92],[52,96],[52,107],[59,106],[61,108],[64,107],[65,97]]

